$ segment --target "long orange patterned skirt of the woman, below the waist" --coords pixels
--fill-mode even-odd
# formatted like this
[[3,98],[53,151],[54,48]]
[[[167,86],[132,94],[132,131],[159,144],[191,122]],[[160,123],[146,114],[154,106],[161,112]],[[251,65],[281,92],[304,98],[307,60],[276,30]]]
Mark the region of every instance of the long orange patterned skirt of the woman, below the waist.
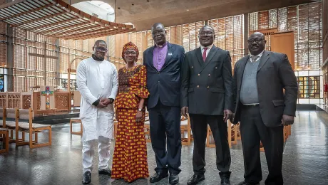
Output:
[[112,179],[132,182],[148,178],[147,147],[145,144],[145,112],[141,122],[135,122],[136,109],[116,110],[118,120],[115,150],[113,154]]

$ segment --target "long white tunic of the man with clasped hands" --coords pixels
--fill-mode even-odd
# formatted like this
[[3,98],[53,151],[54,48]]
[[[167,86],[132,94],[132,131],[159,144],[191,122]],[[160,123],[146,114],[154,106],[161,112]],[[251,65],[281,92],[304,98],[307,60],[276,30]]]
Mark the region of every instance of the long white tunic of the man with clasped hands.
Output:
[[76,81],[82,97],[80,118],[86,134],[83,137],[86,137],[86,141],[98,139],[99,136],[112,139],[113,104],[104,108],[97,108],[92,104],[99,98],[115,100],[118,92],[116,66],[107,60],[87,58],[78,64]]

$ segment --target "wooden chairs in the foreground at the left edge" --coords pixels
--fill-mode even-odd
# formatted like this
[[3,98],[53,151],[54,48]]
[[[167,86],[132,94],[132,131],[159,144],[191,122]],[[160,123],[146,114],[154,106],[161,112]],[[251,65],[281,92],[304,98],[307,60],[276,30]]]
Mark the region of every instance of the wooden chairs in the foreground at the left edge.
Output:
[[[3,132],[0,133],[4,136],[4,140],[8,142],[14,142],[16,147],[29,145],[30,148],[36,148],[51,145],[51,125],[33,123],[34,112],[31,108],[29,108],[29,110],[24,110],[19,108],[2,107],[0,108],[0,112],[2,117],[2,125],[0,125],[0,127],[3,130]],[[14,119],[14,121],[8,121],[7,118]],[[20,122],[20,120],[28,120],[28,122]],[[43,132],[44,130],[48,130],[48,142],[39,143],[38,133]],[[19,138],[19,132],[21,132],[21,138]],[[29,142],[26,142],[25,140],[26,133],[29,134]],[[8,145],[9,144],[6,144],[6,147]]]

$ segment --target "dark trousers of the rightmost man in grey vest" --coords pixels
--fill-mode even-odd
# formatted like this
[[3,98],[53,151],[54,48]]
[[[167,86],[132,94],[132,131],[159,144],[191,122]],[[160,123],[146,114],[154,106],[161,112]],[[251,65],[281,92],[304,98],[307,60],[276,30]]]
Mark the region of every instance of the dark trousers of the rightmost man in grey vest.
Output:
[[245,181],[257,183],[262,180],[260,161],[260,141],[262,141],[269,169],[265,184],[283,184],[284,128],[266,127],[261,118],[259,105],[242,105],[241,108],[240,134],[242,152],[244,152]]

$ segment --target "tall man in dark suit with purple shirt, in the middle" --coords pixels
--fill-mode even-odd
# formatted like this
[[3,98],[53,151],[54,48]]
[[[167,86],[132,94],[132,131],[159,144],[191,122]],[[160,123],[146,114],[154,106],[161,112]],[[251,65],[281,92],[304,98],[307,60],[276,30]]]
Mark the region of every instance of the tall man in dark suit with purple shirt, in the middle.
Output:
[[162,23],[155,23],[151,31],[155,46],[143,52],[150,93],[147,105],[150,137],[157,164],[150,182],[167,177],[169,171],[170,184],[178,184],[181,171],[180,65],[185,58],[185,50],[166,41]]

